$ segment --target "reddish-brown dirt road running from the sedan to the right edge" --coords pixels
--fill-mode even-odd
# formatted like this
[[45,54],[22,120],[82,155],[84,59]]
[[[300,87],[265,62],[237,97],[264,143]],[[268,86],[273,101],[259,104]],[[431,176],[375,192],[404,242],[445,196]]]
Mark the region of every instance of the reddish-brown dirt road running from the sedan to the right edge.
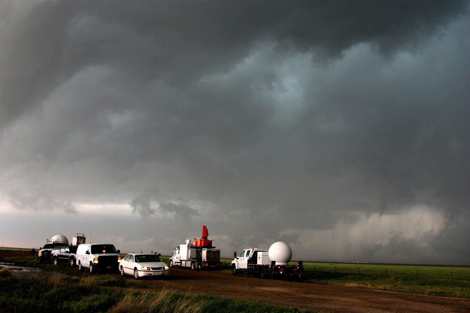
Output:
[[[118,275],[118,274],[113,274]],[[133,279],[126,276],[127,279]],[[197,272],[171,268],[164,279],[145,279],[156,290],[207,293],[245,300],[345,313],[446,313],[470,312],[470,299],[413,295],[397,292],[333,287],[305,282],[290,282],[216,272]]]

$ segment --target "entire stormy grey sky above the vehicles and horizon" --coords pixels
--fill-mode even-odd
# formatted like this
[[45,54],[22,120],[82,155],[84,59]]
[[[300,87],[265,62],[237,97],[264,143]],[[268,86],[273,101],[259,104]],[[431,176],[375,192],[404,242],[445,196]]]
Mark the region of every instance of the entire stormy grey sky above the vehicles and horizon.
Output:
[[0,2],[0,246],[470,265],[469,1]]

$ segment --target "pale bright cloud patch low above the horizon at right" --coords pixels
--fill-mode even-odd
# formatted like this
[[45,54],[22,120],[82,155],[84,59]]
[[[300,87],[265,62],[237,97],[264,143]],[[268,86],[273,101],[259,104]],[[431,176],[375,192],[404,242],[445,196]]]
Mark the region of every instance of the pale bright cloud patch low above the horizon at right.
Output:
[[281,236],[293,237],[290,244],[315,260],[406,263],[411,257],[400,243],[412,243],[427,255],[446,223],[442,213],[416,206],[393,214],[357,213],[354,221],[339,221],[331,229],[286,229]]

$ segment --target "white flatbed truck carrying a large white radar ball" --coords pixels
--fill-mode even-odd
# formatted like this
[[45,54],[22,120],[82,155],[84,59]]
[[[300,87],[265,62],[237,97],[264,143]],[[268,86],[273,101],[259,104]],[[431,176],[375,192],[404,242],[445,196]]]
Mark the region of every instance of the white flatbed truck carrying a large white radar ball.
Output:
[[302,279],[304,265],[302,261],[298,265],[289,265],[292,258],[292,249],[289,244],[282,241],[275,242],[269,250],[249,248],[243,250],[240,255],[232,260],[232,274],[254,275],[261,278],[274,276],[292,276]]

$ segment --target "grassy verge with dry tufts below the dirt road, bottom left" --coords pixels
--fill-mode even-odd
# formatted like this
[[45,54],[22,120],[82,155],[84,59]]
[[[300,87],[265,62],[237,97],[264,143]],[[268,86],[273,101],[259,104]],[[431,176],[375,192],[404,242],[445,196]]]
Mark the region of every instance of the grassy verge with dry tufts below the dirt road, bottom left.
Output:
[[155,292],[133,288],[102,288],[124,287],[125,282],[110,276],[71,279],[53,275],[49,279],[19,279],[3,271],[0,276],[0,312],[319,312],[170,290]]

